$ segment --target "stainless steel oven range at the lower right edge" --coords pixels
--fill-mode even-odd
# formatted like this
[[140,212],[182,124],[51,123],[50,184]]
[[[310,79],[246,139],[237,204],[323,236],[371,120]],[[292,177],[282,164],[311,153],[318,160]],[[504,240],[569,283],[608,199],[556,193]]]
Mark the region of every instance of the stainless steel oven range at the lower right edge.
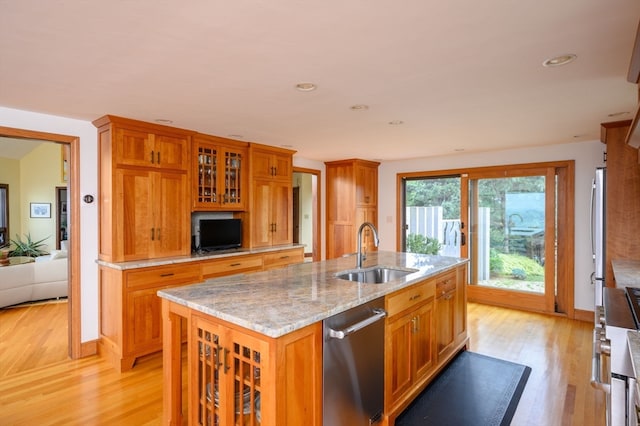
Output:
[[627,332],[638,329],[632,298],[638,303],[640,289],[604,288],[603,306],[595,310],[591,384],[606,393],[608,426],[638,425],[636,381],[627,343]]

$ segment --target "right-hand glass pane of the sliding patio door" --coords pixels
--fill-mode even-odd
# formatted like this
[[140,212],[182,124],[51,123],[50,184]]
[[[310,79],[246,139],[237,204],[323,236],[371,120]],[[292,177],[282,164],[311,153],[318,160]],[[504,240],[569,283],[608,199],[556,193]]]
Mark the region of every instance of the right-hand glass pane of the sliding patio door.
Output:
[[472,180],[472,282],[545,292],[545,176]]

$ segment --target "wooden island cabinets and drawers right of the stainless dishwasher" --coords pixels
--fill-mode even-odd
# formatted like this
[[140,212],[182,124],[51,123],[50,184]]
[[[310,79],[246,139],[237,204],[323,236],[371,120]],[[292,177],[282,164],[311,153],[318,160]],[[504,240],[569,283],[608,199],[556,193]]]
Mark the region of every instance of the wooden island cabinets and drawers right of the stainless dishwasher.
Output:
[[393,423],[468,341],[466,265],[385,298],[385,414]]

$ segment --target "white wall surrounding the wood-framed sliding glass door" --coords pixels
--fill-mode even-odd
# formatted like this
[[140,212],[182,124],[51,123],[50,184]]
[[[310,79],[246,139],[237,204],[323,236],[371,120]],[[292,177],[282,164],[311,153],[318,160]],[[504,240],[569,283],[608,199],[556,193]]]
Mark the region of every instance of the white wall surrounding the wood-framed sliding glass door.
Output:
[[378,228],[380,248],[396,249],[396,177],[398,173],[461,169],[504,164],[543,161],[575,160],[575,303],[576,309],[593,310],[593,287],[590,275],[593,271],[591,243],[589,240],[589,209],[591,179],[594,169],[604,166],[605,145],[600,141],[493,151],[479,154],[418,158],[406,161],[387,161],[380,165],[378,175]]

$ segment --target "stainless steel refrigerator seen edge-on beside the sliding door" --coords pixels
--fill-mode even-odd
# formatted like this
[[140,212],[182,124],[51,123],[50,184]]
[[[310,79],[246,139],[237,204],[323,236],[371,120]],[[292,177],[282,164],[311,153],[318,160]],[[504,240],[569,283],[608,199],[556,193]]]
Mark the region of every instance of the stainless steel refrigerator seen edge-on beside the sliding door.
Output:
[[605,217],[607,169],[598,167],[591,188],[591,254],[593,273],[591,285],[594,286],[595,306],[602,306],[602,289],[605,286]]

